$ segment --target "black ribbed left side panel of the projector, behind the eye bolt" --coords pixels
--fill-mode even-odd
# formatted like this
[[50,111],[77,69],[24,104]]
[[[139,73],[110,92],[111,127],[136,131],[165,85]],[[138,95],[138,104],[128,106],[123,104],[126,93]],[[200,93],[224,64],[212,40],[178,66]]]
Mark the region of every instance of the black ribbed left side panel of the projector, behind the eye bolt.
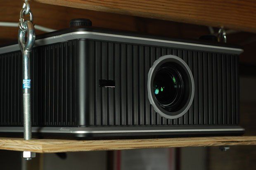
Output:
[[[76,40],[33,48],[32,125],[77,126]],[[22,55],[0,55],[0,125],[22,126]]]

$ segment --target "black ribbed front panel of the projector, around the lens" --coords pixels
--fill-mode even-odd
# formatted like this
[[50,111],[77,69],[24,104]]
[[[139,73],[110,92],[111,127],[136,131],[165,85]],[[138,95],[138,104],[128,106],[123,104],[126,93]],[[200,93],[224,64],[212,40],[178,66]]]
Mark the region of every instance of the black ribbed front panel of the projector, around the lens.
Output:
[[[237,125],[238,56],[157,46],[83,40],[88,65],[85,125]],[[194,101],[177,119],[154,111],[147,94],[147,74],[166,54],[183,59],[194,77]],[[99,87],[114,80],[115,87]],[[86,109],[86,108],[84,108]],[[81,113],[80,113],[81,114]]]

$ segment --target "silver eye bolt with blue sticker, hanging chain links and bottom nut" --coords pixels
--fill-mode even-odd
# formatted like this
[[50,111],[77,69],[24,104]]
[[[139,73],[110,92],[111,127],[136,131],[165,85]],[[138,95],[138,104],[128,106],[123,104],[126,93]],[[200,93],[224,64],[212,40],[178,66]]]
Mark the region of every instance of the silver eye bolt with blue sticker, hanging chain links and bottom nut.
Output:
[[[29,14],[30,20],[24,21],[24,14]],[[27,39],[25,38],[27,33]],[[30,79],[30,53],[35,43],[36,35],[33,25],[33,14],[30,11],[30,5],[25,0],[19,18],[19,33],[18,33],[19,47],[22,53],[22,69],[23,69],[23,124],[24,124],[24,139],[30,140],[32,138],[31,128],[31,79]],[[35,157],[35,153],[24,151],[23,157],[30,160]]]

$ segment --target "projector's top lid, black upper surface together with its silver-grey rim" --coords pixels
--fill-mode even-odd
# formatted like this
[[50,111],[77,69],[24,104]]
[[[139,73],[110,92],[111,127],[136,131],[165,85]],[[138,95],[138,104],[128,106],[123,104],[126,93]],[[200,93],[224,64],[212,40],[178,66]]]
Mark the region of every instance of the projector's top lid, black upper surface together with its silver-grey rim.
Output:
[[[243,52],[242,47],[225,43],[214,43],[196,39],[184,40],[166,38],[155,35],[143,35],[136,32],[115,31],[91,26],[67,28],[59,31],[36,35],[34,47],[49,45],[53,43],[60,43],[74,39],[93,39],[109,42],[131,43],[139,45],[149,45],[154,47],[172,47],[177,49],[198,50],[227,54],[241,54]],[[0,47],[0,54],[14,52],[17,50],[20,50],[18,43],[12,43],[11,45]]]

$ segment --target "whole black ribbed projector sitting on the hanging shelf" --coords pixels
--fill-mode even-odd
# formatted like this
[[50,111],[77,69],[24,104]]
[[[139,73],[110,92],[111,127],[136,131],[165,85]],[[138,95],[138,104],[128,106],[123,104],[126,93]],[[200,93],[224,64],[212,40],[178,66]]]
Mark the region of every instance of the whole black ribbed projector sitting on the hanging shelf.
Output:
[[[240,47],[92,26],[37,36],[32,131],[63,137],[241,135]],[[22,134],[22,55],[0,48],[0,132]]]

